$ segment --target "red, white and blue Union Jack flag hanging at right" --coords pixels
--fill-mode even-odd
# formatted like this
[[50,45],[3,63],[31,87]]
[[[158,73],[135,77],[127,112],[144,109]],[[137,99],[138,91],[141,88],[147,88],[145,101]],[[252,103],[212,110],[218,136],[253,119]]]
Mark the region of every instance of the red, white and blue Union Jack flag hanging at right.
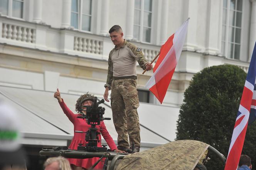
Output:
[[[256,113],[256,43],[254,45],[253,55],[251,57],[250,66],[248,69],[244,90],[238,109],[236,123],[234,126],[229,153],[225,170],[236,170],[240,155],[242,153],[246,129],[249,123],[255,120]],[[249,118],[250,117],[250,118]]]

